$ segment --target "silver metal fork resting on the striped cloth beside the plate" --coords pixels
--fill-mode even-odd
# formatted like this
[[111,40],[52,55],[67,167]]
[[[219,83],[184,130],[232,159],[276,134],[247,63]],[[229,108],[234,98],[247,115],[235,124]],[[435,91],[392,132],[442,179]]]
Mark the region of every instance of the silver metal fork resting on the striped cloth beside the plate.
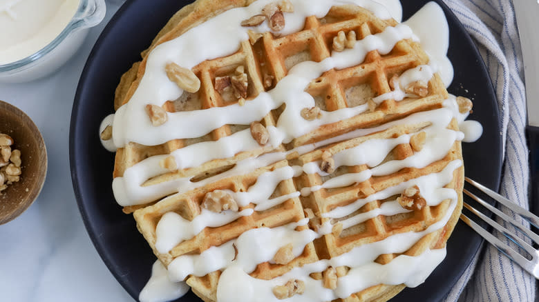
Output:
[[[466,181],[470,183],[471,185],[475,186],[475,188],[481,190],[485,194],[489,195],[489,197],[492,197],[502,205],[509,208],[511,211],[515,212],[516,214],[519,214],[520,217],[527,220],[529,223],[534,225],[536,228],[539,228],[539,217],[532,214],[531,212],[524,210],[523,208],[520,208],[520,206],[516,205],[516,203],[512,203],[509,201],[509,199],[502,197],[502,195],[494,192],[493,190],[490,190],[489,188],[486,188],[484,185],[477,183],[476,181],[473,181],[472,179],[469,179],[468,177],[465,177]],[[468,195],[481,205],[483,205],[485,208],[493,212],[494,214],[498,215],[498,217],[502,218],[504,221],[507,221],[511,223],[512,225],[519,228],[526,236],[531,239],[531,241],[535,242],[536,244],[539,244],[539,235],[532,232],[531,230],[528,230],[527,228],[524,228],[518,221],[515,219],[507,216],[507,214],[504,214],[502,211],[498,210],[497,208],[494,208],[489,203],[486,203],[483,199],[480,199],[479,197],[475,196],[475,194],[469,192],[468,190],[464,189],[464,194]],[[464,207],[473,212],[473,214],[476,214],[480,219],[485,221],[486,223],[489,223],[493,228],[507,236],[511,241],[516,243],[520,248],[525,250],[531,255],[531,260],[527,259],[527,257],[522,256],[518,251],[511,248],[511,246],[507,245],[507,243],[502,242],[500,239],[495,237],[493,234],[482,228],[480,225],[466,217],[465,214],[460,214],[460,219],[464,221],[467,225],[469,225],[475,232],[480,234],[486,241],[489,241],[492,245],[494,245],[500,252],[506,254],[509,259],[515,261],[518,265],[522,266],[524,270],[532,274],[536,277],[536,279],[539,279],[539,250],[536,250],[536,248],[533,248],[533,246],[526,243],[524,240],[520,239],[514,232],[511,232],[507,230],[507,228],[504,228],[504,226],[500,225],[499,223],[493,221],[493,219],[490,219],[482,212],[475,210],[475,208],[471,207],[468,203],[464,203]]]

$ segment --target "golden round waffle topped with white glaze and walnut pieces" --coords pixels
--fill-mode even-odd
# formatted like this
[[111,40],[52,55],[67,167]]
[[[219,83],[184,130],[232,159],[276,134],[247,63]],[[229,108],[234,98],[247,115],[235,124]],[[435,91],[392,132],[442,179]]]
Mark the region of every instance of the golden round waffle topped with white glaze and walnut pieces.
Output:
[[[198,0],[117,88],[115,197],[204,301],[386,301],[444,257],[469,104],[448,96],[410,28],[371,1],[335,2]],[[212,46],[220,18],[245,21],[247,39]],[[212,49],[182,66],[174,56],[194,51],[182,40]]]

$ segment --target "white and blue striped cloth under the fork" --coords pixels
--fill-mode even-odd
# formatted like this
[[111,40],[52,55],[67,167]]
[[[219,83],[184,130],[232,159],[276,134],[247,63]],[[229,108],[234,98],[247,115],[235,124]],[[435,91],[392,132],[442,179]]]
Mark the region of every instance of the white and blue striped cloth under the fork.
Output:
[[[505,150],[500,194],[529,208],[528,148],[524,136],[526,97],[522,52],[511,1],[444,0],[480,49],[496,90]],[[504,212],[515,217],[509,211]],[[513,228],[505,226],[509,230]],[[504,236],[500,239],[509,243]],[[536,279],[486,243],[445,301],[533,302],[536,294]]]

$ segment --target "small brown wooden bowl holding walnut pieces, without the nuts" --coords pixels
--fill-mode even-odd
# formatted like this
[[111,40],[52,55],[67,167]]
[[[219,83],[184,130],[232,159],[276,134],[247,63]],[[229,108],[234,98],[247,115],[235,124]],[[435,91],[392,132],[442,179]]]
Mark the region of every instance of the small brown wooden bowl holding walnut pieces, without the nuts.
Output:
[[37,198],[47,174],[47,150],[35,123],[19,108],[0,101],[0,133],[21,150],[21,179],[0,192],[0,225],[12,221]]

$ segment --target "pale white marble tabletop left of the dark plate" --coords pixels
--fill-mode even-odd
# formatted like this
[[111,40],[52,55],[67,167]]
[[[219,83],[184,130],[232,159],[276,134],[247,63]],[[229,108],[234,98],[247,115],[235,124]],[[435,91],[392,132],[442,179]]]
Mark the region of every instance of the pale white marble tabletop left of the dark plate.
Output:
[[20,217],[0,225],[1,301],[133,301],[86,233],[68,157],[71,107],[79,76],[118,2],[107,2],[104,21],[91,29],[82,48],[60,70],[30,83],[0,83],[0,99],[32,118],[48,152],[47,179],[39,198]]

